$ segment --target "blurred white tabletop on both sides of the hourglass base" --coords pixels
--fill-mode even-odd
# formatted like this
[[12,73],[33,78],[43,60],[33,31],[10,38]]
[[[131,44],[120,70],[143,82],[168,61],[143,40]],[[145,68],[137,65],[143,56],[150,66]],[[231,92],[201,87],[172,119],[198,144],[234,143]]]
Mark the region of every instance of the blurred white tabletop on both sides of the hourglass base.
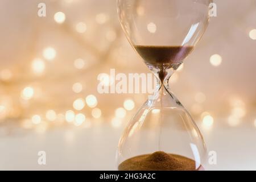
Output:
[[[207,170],[256,169],[255,127],[200,128],[208,151],[217,152],[217,165],[205,166]],[[101,124],[90,129],[52,129],[44,134],[23,130],[16,135],[2,134],[0,170],[115,170],[122,130]],[[38,151],[46,151],[46,166],[38,164]]]

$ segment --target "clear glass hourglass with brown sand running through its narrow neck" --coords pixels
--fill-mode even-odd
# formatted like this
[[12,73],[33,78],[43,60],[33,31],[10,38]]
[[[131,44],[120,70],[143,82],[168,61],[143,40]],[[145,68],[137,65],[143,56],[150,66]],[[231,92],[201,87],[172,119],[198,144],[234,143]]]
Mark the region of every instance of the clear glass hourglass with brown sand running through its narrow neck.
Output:
[[119,170],[202,170],[204,139],[168,81],[209,22],[211,0],[118,0],[127,39],[158,78],[158,88],[126,127]]

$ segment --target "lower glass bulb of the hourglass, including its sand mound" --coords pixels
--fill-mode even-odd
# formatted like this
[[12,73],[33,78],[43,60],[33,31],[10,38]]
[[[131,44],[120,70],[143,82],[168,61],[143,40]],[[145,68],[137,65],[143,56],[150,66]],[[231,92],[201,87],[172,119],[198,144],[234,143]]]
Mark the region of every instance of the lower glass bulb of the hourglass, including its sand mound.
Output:
[[119,170],[204,170],[207,150],[191,115],[165,86],[129,122],[119,140]]

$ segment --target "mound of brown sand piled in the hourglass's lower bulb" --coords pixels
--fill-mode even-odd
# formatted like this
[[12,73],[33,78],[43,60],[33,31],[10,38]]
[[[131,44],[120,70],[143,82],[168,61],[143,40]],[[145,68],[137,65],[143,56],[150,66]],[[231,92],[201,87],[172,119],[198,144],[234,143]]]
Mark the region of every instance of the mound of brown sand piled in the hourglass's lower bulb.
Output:
[[118,166],[120,171],[195,171],[195,160],[158,151],[127,159]]

